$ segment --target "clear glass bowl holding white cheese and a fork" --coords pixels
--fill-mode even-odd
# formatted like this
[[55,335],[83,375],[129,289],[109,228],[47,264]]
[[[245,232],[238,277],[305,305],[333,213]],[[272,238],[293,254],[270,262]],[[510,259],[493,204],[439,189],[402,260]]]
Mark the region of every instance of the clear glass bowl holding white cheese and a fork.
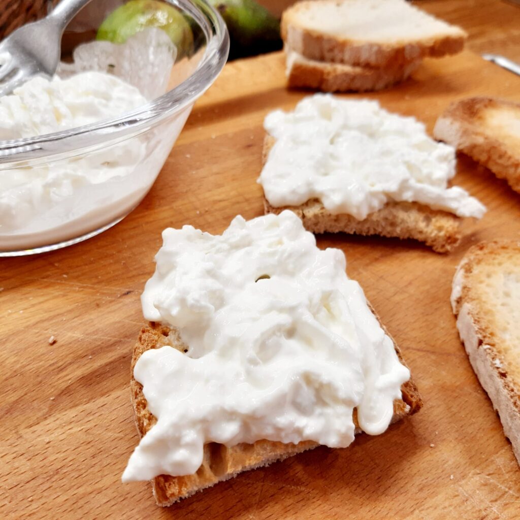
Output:
[[120,222],[153,185],[193,103],[215,81],[229,51],[224,21],[203,0],[162,3],[188,20],[189,48],[174,48],[160,29],[121,45],[95,42],[106,14],[99,6],[124,4],[117,0],[92,2],[64,33],[60,77],[112,73],[148,102],[114,119],[0,141],[0,256],[52,251],[93,237]]

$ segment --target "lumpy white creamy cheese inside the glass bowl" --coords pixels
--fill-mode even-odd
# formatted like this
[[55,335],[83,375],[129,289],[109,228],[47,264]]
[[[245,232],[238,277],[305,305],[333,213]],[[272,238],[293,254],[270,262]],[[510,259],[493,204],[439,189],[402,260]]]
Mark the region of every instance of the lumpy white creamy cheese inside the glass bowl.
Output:
[[[0,98],[0,139],[59,132],[122,115],[144,103],[137,88],[101,72],[83,72],[67,80],[35,77]],[[44,212],[77,193],[73,206],[84,205],[82,188],[128,174],[145,151],[145,144],[134,139],[68,160],[2,171],[0,246],[3,233],[37,231]]]

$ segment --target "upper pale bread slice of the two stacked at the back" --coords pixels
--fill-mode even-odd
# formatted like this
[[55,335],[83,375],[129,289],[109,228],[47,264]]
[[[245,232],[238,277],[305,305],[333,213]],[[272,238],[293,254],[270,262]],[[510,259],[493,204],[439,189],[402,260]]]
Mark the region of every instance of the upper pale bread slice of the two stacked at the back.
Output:
[[319,60],[391,67],[462,50],[466,33],[406,0],[314,0],[285,10],[282,38]]

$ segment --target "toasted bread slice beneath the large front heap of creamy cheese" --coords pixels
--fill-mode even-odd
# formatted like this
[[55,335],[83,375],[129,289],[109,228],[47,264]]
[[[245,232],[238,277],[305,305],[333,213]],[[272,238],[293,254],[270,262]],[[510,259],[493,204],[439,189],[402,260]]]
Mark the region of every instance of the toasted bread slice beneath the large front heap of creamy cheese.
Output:
[[[146,350],[160,348],[164,345],[171,345],[186,352],[186,345],[180,340],[175,329],[150,322],[141,329],[139,340],[134,347],[131,391],[135,421],[141,437],[150,430],[156,419],[148,409],[146,398],[142,392],[142,385],[134,379],[134,367],[141,354]],[[395,342],[394,346],[399,359],[405,364]],[[402,399],[394,401],[392,422],[415,413],[422,407],[421,396],[412,379],[401,386],[401,392]],[[354,422],[357,426],[356,411],[354,411]],[[356,432],[359,433],[359,428],[356,428]],[[170,475],[155,477],[152,480],[153,495],[158,505],[168,506],[181,498],[189,497],[197,491],[222,482],[222,480],[232,478],[238,473],[266,466],[317,446],[313,441],[294,445],[269,440],[258,440],[254,444],[239,444],[230,448],[217,443],[206,444],[204,446],[203,463],[197,473],[177,477]]]

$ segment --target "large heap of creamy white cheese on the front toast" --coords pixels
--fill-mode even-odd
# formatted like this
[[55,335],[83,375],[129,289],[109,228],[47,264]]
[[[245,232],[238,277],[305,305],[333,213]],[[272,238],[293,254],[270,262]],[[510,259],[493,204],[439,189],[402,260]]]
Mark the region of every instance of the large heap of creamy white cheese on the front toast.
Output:
[[157,424],[124,482],[192,474],[212,441],[348,446],[355,408],[362,430],[386,430],[409,371],[343,252],[319,250],[294,213],[238,216],[222,236],[166,229],[155,261],[144,316],[178,328],[188,351],[136,363]]

